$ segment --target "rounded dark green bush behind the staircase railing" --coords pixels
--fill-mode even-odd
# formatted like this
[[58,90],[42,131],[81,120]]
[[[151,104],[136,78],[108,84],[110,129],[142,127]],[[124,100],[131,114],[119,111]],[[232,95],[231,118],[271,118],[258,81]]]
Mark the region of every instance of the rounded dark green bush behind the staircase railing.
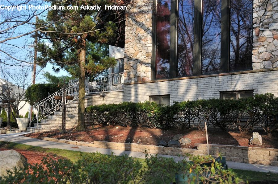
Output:
[[28,103],[34,105],[59,89],[57,84],[33,84],[26,89],[25,96]]

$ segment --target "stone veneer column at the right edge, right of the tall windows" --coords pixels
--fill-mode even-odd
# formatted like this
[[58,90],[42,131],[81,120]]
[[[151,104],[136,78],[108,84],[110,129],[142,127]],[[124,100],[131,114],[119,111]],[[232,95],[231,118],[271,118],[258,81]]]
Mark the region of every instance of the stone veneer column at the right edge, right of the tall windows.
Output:
[[254,0],[253,70],[278,67],[278,1]]

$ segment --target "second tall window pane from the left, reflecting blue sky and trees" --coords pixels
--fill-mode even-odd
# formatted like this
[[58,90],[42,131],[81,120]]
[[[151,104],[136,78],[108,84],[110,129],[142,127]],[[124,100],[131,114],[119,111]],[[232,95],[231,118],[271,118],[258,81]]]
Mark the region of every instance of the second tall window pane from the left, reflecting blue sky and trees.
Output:
[[177,77],[192,76],[194,1],[178,3]]

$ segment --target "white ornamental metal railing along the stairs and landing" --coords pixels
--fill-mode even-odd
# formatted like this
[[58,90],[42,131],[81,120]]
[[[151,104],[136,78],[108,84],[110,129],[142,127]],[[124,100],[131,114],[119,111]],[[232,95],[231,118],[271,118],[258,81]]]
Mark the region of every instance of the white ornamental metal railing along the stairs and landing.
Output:
[[[99,93],[112,90],[123,89],[124,75],[123,73],[115,73],[108,75],[101,75],[95,78],[95,80],[90,81],[89,78],[85,79],[85,92],[86,93]],[[69,84],[65,88],[66,96],[73,96],[72,100],[65,100],[65,104],[70,103],[71,101],[78,98],[79,92],[79,79],[70,80]],[[32,106],[33,112],[36,116],[30,118],[31,121],[40,121],[50,114],[56,112],[62,108],[63,99],[55,100],[55,96],[63,96],[63,89],[53,93],[44,100],[36,103]]]

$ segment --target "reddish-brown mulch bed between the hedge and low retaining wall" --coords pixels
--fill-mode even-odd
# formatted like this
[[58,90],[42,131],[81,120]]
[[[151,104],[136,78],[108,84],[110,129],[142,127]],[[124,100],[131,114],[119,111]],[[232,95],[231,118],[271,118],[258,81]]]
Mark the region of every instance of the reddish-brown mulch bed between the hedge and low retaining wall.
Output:
[[[118,128],[116,128],[118,127]],[[192,140],[189,145],[182,145],[182,148],[195,148],[195,143],[206,143],[206,134],[199,130],[160,130],[143,127],[123,127],[123,126],[89,126],[85,131],[75,132],[74,129],[67,129],[67,132],[60,133],[59,130],[26,134],[27,137],[40,139],[41,137],[53,137],[59,139],[70,139],[73,141],[110,141],[137,143],[141,139],[141,144],[157,145],[161,140],[170,141],[176,134],[183,134],[183,138]],[[249,145],[251,133],[226,132],[221,129],[208,129],[208,143],[222,145],[240,145],[251,147],[278,148],[278,137],[268,137],[266,133],[262,135],[263,145]]]

